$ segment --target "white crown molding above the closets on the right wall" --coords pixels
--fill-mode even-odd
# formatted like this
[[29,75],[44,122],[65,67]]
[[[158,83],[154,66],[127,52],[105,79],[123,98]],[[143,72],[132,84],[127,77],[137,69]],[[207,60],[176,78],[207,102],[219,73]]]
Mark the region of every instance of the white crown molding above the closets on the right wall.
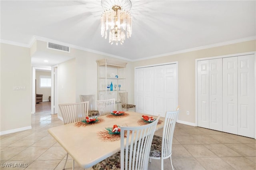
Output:
[[184,49],[184,50],[180,50],[180,51],[174,51],[174,52],[171,52],[171,53],[164,53],[164,54],[159,54],[159,55],[153,55],[153,56],[150,56],[150,57],[143,57],[143,58],[140,58],[140,59],[134,59],[132,61],[141,61],[141,60],[146,60],[146,59],[165,57],[165,56],[168,56],[168,55],[187,53],[187,52],[191,52],[191,51],[198,51],[198,50],[201,50],[201,49],[207,49],[207,48],[212,48],[212,47],[219,47],[219,46],[223,46],[223,45],[229,45],[229,44],[234,44],[234,43],[246,42],[246,41],[251,41],[251,40],[256,40],[256,36],[247,37],[247,38],[241,38],[241,39],[232,40],[232,41],[228,41],[228,42],[215,43],[215,44],[211,44],[211,45],[204,45],[204,46],[200,46],[200,47]]

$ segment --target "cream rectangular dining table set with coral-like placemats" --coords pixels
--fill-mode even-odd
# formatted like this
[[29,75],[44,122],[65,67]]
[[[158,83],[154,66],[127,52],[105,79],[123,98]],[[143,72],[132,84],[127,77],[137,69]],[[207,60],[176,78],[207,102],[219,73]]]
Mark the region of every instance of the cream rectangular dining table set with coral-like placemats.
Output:
[[[60,125],[48,129],[52,137],[68,152],[68,154],[79,164],[87,169],[98,162],[120,151],[120,138],[111,140],[111,135],[104,135],[113,125],[120,127],[142,126],[142,115],[156,119],[158,116],[126,111],[124,115],[104,115],[97,119],[97,123],[77,126],[78,123]],[[80,124],[79,124],[80,125]],[[160,117],[156,130],[164,127],[164,117]],[[116,134],[113,134],[116,136]],[[102,138],[103,136],[103,138]],[[119,135],[120,136],[120,135]]]

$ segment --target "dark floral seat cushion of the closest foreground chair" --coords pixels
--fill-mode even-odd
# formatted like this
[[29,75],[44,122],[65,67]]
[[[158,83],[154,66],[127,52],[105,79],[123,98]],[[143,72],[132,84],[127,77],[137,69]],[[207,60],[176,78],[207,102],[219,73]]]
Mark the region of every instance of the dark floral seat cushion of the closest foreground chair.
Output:
[[121,151],[109,156],[105,160],[99,162],[98,164],[92,166],[94,170],[120,170]]

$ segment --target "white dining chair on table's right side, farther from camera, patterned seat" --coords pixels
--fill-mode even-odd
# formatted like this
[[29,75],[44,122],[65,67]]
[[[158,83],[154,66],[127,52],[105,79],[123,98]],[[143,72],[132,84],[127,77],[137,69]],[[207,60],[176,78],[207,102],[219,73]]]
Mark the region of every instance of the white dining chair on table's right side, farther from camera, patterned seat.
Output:
[[[179,107],[176,111],[167,111],[164,120],[163,136],[154,135],[152,145],[150,149],[150,163],[151,159],[161,160],[161,170],[164,170],[164,159],[170,158],[172,165],[172,138],[178,114],[180,112]],[[173,165],[172,165],[173,169]]]

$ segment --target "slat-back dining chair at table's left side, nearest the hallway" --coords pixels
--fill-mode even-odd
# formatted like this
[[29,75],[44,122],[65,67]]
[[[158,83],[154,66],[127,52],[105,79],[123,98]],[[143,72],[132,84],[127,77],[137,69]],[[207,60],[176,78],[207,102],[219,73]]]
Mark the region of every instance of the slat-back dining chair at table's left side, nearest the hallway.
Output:
[[[64,125],[86,119],[86,116],[88,116],[88,106],[89,106],[89,101],[80,102],[80,103],[59,104]],[[68,153],[67,153],[66,161],[62,170],[65,169],[67,160],[68,160]],[[72,170],[74,170],[74,164],[75,162],[73,159]]]

